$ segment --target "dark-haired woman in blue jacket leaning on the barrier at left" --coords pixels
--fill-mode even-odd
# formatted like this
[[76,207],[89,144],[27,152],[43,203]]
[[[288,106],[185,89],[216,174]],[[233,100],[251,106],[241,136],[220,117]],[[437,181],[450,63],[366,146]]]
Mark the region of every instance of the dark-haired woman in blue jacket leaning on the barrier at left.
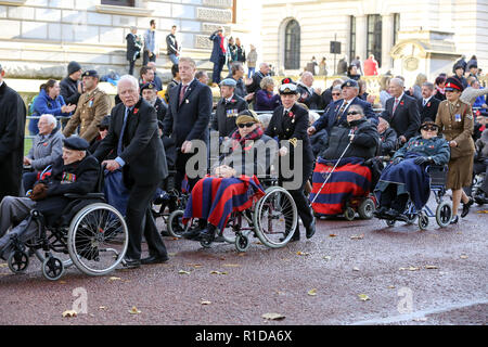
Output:
[[[50,114],[54,117],[69,117],[72,112],[75,111],[76,105],[66,105],[63,97],[60,94],[61,88],[60,82],[50,79],[46,83],[40,86],[39,95],[36,97],[34,101],[34,117],[40,117],[43,114]],[[29,131],[31,134],[38,134],[39,119],[31,119],[29,123]]]

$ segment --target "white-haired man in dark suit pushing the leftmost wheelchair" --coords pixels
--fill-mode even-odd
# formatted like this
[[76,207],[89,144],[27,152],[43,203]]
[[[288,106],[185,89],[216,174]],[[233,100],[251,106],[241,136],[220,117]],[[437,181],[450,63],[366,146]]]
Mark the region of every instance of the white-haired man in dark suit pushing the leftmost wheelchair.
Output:
[[[117,157],[104,160],[111,172],[121,172],[121,182],[129,191],[126,221],[129,245],[124,265],[138,268],[141,264],[168,260],[165,244],[151,213],[151,202],[157,187],[168,175],[163,142],[157,131],[156,111],[139,94],[139,82],[130,75],[117,85],[121,103],[112,110],[111,126],[95,153],[99,160],[112,151]],[[149,257],[141,259],[144,235]]]

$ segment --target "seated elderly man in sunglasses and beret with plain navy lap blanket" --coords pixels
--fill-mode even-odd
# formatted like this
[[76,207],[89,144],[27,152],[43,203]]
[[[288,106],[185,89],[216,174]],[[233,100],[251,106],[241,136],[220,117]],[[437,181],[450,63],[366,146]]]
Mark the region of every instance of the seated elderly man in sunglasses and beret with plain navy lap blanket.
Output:
[[380,207],[374,215],[380,219],[409,222],[404,215],[409,200],[415,210],[421,211],[431,195],[426,167],[444,167],[449,162],[449,144],[438,136],[438,126],[426,119],[420,131],[421,136],[410,139],[398,150],[382,172],[375,189]]

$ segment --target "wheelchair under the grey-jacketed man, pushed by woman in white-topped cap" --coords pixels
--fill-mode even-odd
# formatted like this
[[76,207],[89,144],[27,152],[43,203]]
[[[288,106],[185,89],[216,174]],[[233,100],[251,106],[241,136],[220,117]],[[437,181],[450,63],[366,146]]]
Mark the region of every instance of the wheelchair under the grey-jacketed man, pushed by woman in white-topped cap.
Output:
[[[223,228],[218,230],[214,242],[201,241],[204,248],[211,247],[213,243],[234,244],[237,252],[246,252],[252,237],[257,237],[269,248],[284,247],[293,236],[298,222],[298,211],[292,195],[278,185],[278,179],[271,176],[259,178],[265,190],[265,195],[253,202],[251,208],[243,211],[233,211]],[[181,234],[190,228],[195,228],[197,222],[191,220],[183,224],[184,210],[177,211],[174,220],[177,228],[176,234]]]

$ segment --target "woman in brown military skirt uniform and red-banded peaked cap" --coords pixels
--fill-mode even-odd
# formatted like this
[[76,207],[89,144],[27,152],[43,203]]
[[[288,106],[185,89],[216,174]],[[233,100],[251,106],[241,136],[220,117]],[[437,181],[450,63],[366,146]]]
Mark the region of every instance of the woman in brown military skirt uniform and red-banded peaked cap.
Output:
[[461,217],[465,217],[473,205],[473,198],[463,191],[463,187],[470,187],[473,178],[473,155],[475,146],[473,142],[473,111],[471,105],[459,98],[464,90],[462,82],[450,77],[446,81],[446,99],[439,104],[436,124],[440,127],[446,140],[449,141],[451,158],[449,160],[449,174],[447,189],[452,190],[452,218],[451,223],[458,223],[458,207],[463,202]]

